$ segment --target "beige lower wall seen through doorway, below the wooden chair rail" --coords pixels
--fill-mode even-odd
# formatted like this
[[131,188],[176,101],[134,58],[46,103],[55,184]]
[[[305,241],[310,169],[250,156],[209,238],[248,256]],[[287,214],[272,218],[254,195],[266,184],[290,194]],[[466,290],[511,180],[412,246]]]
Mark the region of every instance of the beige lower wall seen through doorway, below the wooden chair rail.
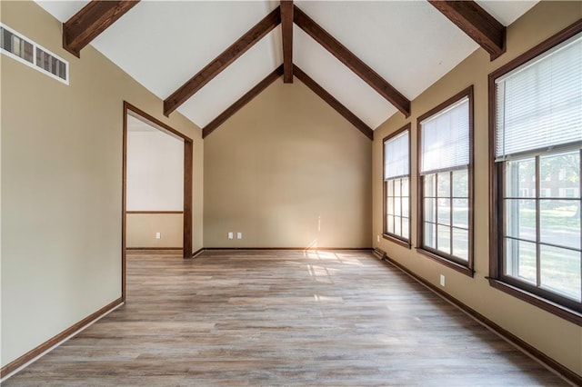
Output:
[[[125,246],[128,248],[182,248],[182,213],[127,213],[125,219]],[[156,239],[156,233],[160,233],[160,239]]]

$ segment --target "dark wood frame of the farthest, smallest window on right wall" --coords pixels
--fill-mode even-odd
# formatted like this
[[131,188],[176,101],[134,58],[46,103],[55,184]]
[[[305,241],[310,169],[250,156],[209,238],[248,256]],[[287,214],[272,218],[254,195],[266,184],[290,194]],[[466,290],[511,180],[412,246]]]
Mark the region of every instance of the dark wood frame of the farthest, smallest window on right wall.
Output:
[[[387,232],[387,209],[386,209],[386,178],[384,177],[386,174],[386,141],[403,134],[404,132],[408,132],[408,238],[404,238],[400,235],[396,235],[394,233]],[[382,221],[382,237],[387,241],[391,241],[397,244],[400,244],[404,247],[410,249],[412,247],[412,200],[411,200],[411,190],[412,190],[412,180],[411,180],[411,170],[412,170],[412,124],[408,123],[401,127],[400,129],[396,130],[396,132],[386,135],[382,139],[382,211],[384,213],[383,221]],[[405,177],[405,176],[401,176]],[[402,194],[401,194],[402,195]]]

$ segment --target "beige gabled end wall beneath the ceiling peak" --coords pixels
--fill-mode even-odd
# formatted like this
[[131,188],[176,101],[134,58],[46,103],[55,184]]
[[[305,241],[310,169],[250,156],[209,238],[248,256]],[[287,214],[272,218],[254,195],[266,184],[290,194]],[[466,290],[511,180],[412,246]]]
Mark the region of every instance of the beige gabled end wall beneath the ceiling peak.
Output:
[[371,144],[277,80],[205,139],[205,247],[369,247]]

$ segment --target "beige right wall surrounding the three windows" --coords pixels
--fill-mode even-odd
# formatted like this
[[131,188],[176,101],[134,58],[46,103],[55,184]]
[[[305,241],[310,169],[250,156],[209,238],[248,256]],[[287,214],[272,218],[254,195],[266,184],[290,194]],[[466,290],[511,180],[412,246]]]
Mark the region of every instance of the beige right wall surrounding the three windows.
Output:
[[[544,2],[537,5],[508,27],[505,55],[493,63],[489,62],[488,55],[482,49],[470,55],[413,101],[410,119],[395,114],[376,129],[373,151],[375,245],[435,285],[438,285],[439,274],[445,274],[445,291],[578,374],[582,374],[582,328],[491,288],[485,277],[489,271],[487,74],[580,17],[580,2]],[[376,243],[376,235],[382,233],[382,138],[406,123],[413,124],[411,194],[412,203],[416,203],[416,118],[471,84],[475,85],[475,278],[457,273],[416,253],[416,205],[412,207],[412,250],[384,239]]]

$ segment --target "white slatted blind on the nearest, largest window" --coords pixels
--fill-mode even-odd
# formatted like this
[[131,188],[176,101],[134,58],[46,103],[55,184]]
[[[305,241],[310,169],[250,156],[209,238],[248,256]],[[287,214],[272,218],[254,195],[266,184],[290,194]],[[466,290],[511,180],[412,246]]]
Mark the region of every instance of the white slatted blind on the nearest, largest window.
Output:
[[496,159],[582,144],[582,34],[496,80]]

